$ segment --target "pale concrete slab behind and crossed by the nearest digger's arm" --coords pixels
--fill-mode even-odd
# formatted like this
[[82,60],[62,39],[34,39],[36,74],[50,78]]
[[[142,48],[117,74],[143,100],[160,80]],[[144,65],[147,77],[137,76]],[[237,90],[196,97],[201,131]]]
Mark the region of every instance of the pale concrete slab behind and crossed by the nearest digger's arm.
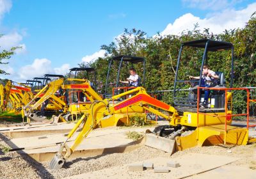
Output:
[[[95,156],[102,153],[124,152],[131,150],[128,145],[133,143],[132,139],[127,139],[126,133],[129,131],[145,132],[146,128],[97,128],[93,130],[73,153],[70,159],[77,157]],[[72,146],[79,132],[74,134],[67,143]],[[51,160],[58,152],[60,144],[67,139],[67,134],[54,134],[47,136],[16,138],[8,141],[12,148],[24,148],[33,159],[38,161]],[[138,148],[138,146],[136,146]]]

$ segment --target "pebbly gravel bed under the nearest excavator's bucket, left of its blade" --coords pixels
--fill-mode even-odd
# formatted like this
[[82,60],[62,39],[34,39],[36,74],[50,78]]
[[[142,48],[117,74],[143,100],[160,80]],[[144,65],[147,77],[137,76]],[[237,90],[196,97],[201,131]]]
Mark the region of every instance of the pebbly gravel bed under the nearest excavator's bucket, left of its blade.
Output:
[[[4,140],[7,138],[4,137],[3,139],[3,135],[0,135],[1,148],[8,147],[6,143],[4,143]],[[159,156],[170,155],[154,148],[142,146],[141,148],[127,153],[113,153],[68,160],[63,168],[51,170],[49,169],[49,162],[43,162],[41,164],[24,153],[8,152],[4,154],[1,152],[0,178],[63,178]]]

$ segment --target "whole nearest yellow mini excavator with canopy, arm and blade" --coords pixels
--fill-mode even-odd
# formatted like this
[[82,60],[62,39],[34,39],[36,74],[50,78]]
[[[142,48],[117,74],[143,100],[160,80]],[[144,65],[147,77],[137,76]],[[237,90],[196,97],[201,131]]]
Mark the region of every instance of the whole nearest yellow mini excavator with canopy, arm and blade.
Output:
[[[182,63],[180,59],[184,47],[204,49],[202,63],[200,63],[200,79],[197,81],[179,79],[178,69]],[[207,52],[225,50],[232,51],[232,58],[230,60],[232,65],[230,71],[230,88],[224,86],[224,75],[218,74],[218,86],[215,89],[209,88],[209,90],[211,89],[207,104],[209,108],[200,109],[199,102],[201,98],[204,98],[204,90],[207,90],[201,87],[202,68],[205,61],[207,61]],[[172,153],[176,150],[184,150],[204,144],[247,144],[249,141],[248,128],[239,128],[230,125],[233,116],[232,93],[230,92],[233,80],[233,52],[234,47],[232,43],[228,42],[204,39],[182,43],[175,74],[174,106],[150,97],[142,87],[131,89],[109,99],[95,100],[90,105],[90,109],[84,111],[83,116],[68,134],[67,139],[61,144],[59,152],[53,157],[49,167],[51,169],[59,169],[63,166],[65,160],[76,150],[79,143],[90,134],[93,128],[108,127],[109,124],[116,120],[113,117],[115,113],[132,107],[136,108],[136,111],[141,111],[141,113],[145,110],[150,111],[169,121],[168,126],[157,127],[153,133],[146,134],[146,144],[148,146],[159,148],[166,152]],[[193,85],[188,86],[188,83]],[[198,85],[195,86],[195,83]],[[184,86],[186,90],[182,89]],[[132,97],[122,100],[119,103],[111,104],[112,101],[131,94],[133,94]],[[157,109],[154,109],[154,107],[157,107]],[[80,128],[82,130],[79,130]],[[68,140],[78,131],[78,136],[70,145],[71,141],[68,143]]]

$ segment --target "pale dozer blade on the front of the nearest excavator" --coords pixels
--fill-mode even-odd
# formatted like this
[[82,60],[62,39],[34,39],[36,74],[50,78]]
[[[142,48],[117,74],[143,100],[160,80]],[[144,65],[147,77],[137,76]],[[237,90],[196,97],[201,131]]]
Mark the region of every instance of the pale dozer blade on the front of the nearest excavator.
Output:
[[166,139],[164,137],[156,136],[156,134],[146,134],[146,146],[163,150],[164,152],[175,152],[175,140]]

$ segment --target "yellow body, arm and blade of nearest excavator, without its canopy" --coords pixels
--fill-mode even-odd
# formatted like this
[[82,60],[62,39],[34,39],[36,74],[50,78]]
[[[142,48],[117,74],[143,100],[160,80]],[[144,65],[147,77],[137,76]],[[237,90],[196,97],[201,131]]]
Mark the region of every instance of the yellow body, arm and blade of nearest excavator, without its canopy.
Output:
[[[128,98],[114,105],[109,105],[109,103],[111,104],[111,101],[117,100],[122,96],[132,93],[135,93],[135,95],[131,98]],[[229,95],[228,100],[231,100],[231,97],[232,95]],[[150,106],[155,106],[157,109],[163,109],[169,114],[163,114],[162,112]],[[132,109],[132,107],[134,107],[134,109]],[[147,145],[159,149],[168,145],[167,151],[165,150],[166,152],[184,150],[186,148],[202,146],[204,144],[247,144],[248,142],[248,130],[246,128],[230,126],[229,124],[231,123],[231,118],[227,118],[226,121],[226,113],[207,113],[206,115],[199,114],[197,118],[197,113],[184,112],[184,115],[180,116],[174,107],[150,97],[144,88],[138,87],[132,89],[131,91],[116,95],[111,99],[93,102],[90,105],[90,109],[84,111],[83,116],[77,122],[72,131],[68,134],[66,141],[68,141],[68,139],[72,137],[77,129],[83,124],[83,129],[81,132],[79,132],[78,136],[74,140],[74,143],[71,146],[68,146],[66,142],[61,144],[60,151],[57,153],[54,159],[52,159],[50,167],[60,167],[60,160],[65,160],[70,157],[74,150],[76,150],[76,147],[79,145],[79,143],[81,143],[84,137],[90,134],[93,128],[113,126],[116,125],[119,120],[123,121],[124,123],[125,121],[128,123],[129,120],[127,120],[127,116],[131,115],[132,113],[127,113],[125,115],[124,113],[117,113],[118,111],[140,111],[142,109],[150,111],[156,115],[163,116],[163,118],[168,120],[170,125],[173,127],[182,125],[182,128],[195,128],[195,130],[188,136],[177,136],[175,137],[175,140],[166,139],[164,137],[159,137],[153,134],[149,134],[147,136]],[[134,115],[136,114],[138,113],[134,113]],[[227,114],[231,114],[231,111],[227,111]],[[227,123],[227,130],[225,130],[225,123]],[[162,138],[164,142],[159,143]],[[63,154],[64,148],[66,149],[66,152]]]

